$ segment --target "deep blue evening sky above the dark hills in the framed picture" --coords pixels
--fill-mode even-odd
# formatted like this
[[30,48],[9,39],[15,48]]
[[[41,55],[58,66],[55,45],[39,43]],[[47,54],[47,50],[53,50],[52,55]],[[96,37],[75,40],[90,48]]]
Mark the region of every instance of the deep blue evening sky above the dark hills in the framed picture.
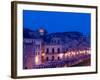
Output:
[[79,31],[90,34],[91,15],[89,13],[51,12],[23,10],[24,28],[36,30],[45,28],[49,33]]

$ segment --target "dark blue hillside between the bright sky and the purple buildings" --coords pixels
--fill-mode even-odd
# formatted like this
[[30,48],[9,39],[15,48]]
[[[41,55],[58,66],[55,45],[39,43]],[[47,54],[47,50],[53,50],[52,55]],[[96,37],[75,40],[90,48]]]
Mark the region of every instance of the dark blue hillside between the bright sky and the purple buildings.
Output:
[[[28,38],[28,39],[41,39],[42,38],[44,40],[45,44],[51,44],[51,42],[54,38],[59,39],[61,41],[60,44],[65,44],[66,40],[68,40],[68,42],[74,41],[74,40],[77,40],[79,42],[81,42],[80,40],[82,40],[82,41],[86,42],[86,37],[84,37],[84,35],[82,33],[76,32],[76,31],[48,33],[41,37],[38,30],[33,31],[30,29],[24,29],[23,37]],[[90,44],[90,43],[88,43],[88,44]]]

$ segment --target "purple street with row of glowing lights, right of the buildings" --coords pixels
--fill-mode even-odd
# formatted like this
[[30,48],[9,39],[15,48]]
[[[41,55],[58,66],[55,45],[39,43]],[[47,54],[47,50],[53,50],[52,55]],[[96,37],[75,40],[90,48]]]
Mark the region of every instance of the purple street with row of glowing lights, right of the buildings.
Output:
[[[90,66],[90,51],[68,52],[64,54],[59,61],[45,61],[44,64],[34,66],[34,68],[56,68],[56,67],[75,67],[75,66]],[[84,53],[85,52],[85,53]],[[67,55],[66,55],[67,54]]]

